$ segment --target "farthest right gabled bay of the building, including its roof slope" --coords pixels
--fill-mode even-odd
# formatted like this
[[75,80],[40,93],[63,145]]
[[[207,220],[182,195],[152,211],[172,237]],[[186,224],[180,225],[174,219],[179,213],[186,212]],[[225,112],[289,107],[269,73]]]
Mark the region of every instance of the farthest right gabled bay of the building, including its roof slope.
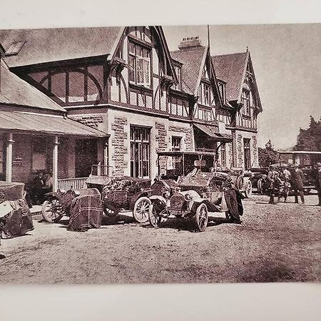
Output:
[[262,111],[250,52],[213,56],[223,105],[217,108],[218,121],[225,123],[233,137],[220,150],[223,165],[258,167],[258,114]]

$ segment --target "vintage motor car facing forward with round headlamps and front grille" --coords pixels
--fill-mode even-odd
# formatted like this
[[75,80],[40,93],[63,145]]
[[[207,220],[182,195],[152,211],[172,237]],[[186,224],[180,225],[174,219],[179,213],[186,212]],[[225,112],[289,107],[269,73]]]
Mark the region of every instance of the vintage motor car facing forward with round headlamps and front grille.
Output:
[[[238,201],[237,190],[232,186],[230,175],[202,171],[201,168],[206,167],[204,159],[195,160],[193,165],[194,170],[180,176],[176,185],[163,189],[161,195],[154,191],[150,196],[151,208],[148,218],[153,227],[158,227],[163,218],[174,215],[177,218],[193,219],[195,229],[203,232],[208,225],[208,212],[225,212],[226,217],[231,218],[231,212],[235,210],[235,203]],[[230,193],[227,193],[228,191]],[[236,208],[239,209],[238,205]]]

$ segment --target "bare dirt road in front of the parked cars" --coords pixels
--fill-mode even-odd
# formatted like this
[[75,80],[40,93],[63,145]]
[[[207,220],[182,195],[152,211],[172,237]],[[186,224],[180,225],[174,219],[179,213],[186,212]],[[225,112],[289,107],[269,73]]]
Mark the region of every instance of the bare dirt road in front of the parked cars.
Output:
[[[21,238],[2,240],[1,283],[287,282],[321,280],[321,210],[245,200],[242,225],[211,213],[204,233],[186,221],[161,228],[130,216],[76,233],[34,222]],[[220,216],[220,217],[219,217]]]

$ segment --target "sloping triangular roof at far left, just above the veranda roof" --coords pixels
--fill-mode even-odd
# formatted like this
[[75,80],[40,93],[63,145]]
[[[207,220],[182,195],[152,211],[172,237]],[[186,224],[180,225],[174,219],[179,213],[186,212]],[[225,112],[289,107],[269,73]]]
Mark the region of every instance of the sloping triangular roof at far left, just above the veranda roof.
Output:
[[9,71],[3,59],[0,68],[0,103],[66,111],[44,93]]

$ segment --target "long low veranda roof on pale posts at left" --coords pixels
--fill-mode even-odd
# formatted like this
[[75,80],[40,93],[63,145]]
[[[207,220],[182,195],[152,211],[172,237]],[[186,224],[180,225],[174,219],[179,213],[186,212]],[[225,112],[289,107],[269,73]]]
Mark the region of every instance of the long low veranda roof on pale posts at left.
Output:
[[43,133],[59,136],[106,137],[107,133],[63,116],[0,111],[0,131]]

